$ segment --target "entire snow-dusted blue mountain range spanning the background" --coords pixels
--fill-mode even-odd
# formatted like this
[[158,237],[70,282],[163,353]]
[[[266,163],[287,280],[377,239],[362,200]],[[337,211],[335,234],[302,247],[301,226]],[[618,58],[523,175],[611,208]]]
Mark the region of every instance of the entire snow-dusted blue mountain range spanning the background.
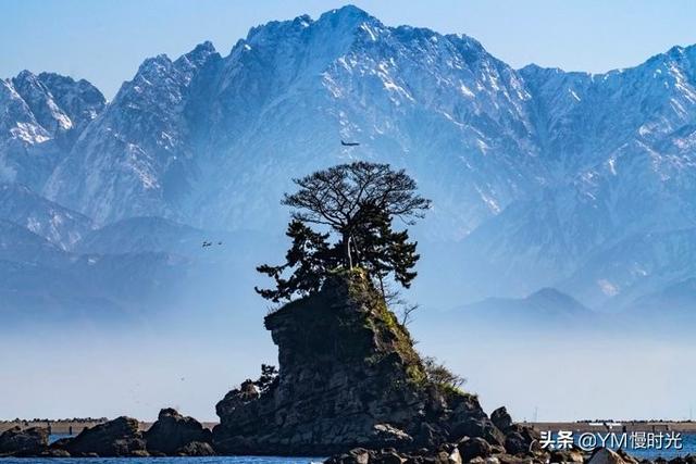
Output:
[[[434,200],[417,233],[446,246],[423,274],[450,276],[459,303],[556,287],[618,310],[696,277],[694,46],[606,74],[514,70],[345,7],[254,27],[225,57],[148,59],[105,105],[84,80],[0,83],[0,179],[85,217],[0,218],[63,249],[281,230],[290,179],[352,159],[405,167]],[[104,227],[84,238],[90,221]]]

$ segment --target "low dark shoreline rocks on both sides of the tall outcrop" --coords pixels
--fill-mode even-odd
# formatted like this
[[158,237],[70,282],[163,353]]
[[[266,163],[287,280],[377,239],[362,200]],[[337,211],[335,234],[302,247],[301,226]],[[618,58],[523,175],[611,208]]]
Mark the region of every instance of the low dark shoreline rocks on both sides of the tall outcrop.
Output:
[[[486,438],[463,436],[457,441],[432,447],[353,448],[337,453],[325,464],[696,464],[696,455],[670,461],[636,460],[622,450],[597,448],[587,452],[579,448],[542,450],[538,434],[525,425],[513,424],[505,407],[490,415],[495,429],[478,428]],[[475,429],[472,429],[475,430]],[[245,454],[260,453],[249,452]],[[290,453],[291,455],[295,455]],[[119,417],[85,429],[74,438],[49,443],[48,428],[14,427],[0,434],[2,457],[160,457],[238,455],[214,448],[212,434],[192,417],[173,409],[160,412],[147,430],[138,422]],[[278,452],[273,455],[288,455]]]

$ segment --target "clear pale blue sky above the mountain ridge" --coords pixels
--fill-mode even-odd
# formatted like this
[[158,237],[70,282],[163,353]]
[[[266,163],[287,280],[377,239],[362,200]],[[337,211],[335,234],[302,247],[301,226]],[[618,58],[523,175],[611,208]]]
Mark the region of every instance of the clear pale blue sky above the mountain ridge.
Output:
[[[334,0],[0,0],[0,77],[24,68],[85,77],[108,98],[147,57],[203,40],[223,55],[247,30],[345,4]],[[387,25],[464,33],[513,66],[604,72],[696,43],[689,0],[356,0]],[[408,5],[408,7],[406,7]]]

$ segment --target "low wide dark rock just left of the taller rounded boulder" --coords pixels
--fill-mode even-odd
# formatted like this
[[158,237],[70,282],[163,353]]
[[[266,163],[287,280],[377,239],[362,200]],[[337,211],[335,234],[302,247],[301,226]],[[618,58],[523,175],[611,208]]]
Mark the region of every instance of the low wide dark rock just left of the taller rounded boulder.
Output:
[[73,456],[147,456],[138,421],[119,417],[83,430],[77,437],[62,441],[60,448]]

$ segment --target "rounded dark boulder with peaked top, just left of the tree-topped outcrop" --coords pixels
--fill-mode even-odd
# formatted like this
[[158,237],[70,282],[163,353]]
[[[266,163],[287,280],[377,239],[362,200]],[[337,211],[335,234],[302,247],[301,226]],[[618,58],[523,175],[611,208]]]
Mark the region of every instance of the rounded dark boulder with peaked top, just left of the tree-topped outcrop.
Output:
[[145,439],[149,452],[174,454],[191,442],[210,443],[211,432],[195,418],[167,407],[160,411],[157,422],[145,432]]

